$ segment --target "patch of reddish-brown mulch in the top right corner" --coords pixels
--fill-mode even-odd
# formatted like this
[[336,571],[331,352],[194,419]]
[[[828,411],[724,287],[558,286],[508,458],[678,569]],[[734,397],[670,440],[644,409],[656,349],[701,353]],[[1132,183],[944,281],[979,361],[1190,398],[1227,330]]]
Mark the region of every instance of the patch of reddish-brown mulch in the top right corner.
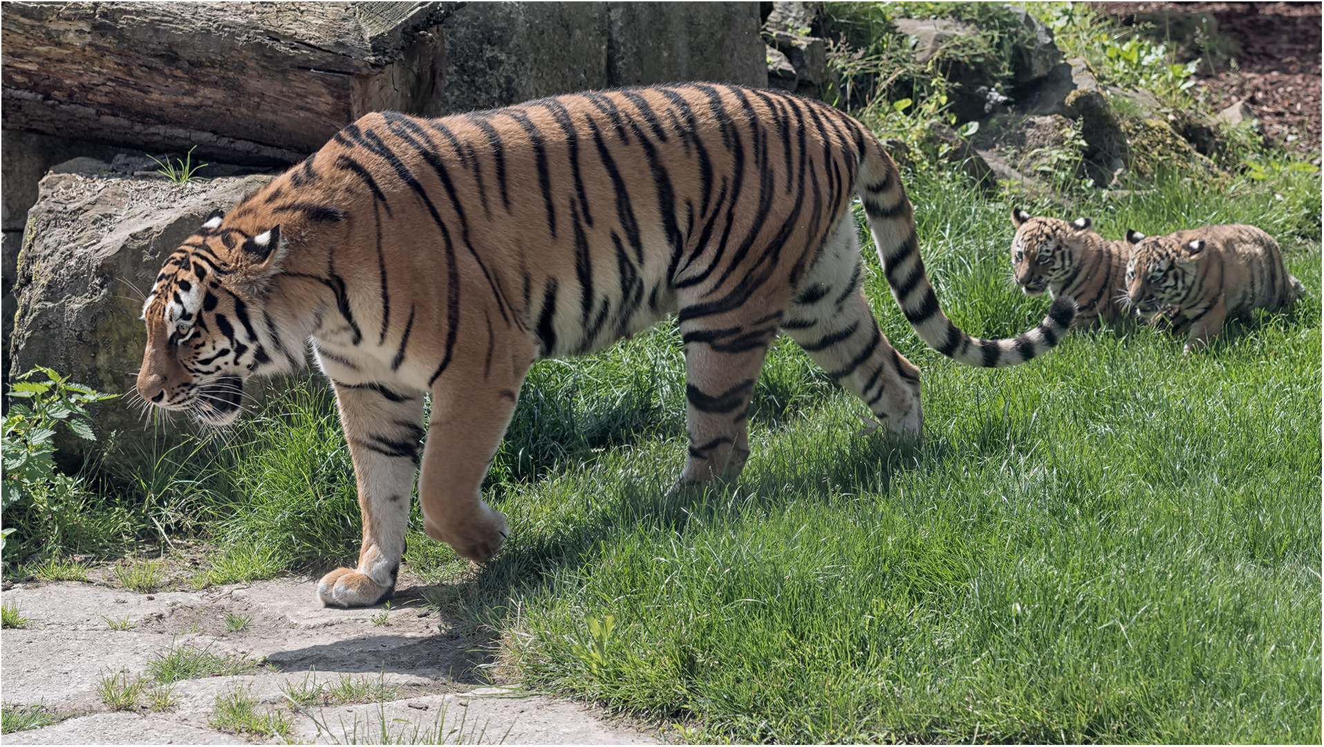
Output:
[[[1127,20],[1133,13],[1209,13],[1235,52],[1198,73],[1213,110],[1245,102],[1264,134],[1301,154],[1319,151],[1321,130],[1319,3],[1096,3]],[[1235,61],[1235,65],[1231,62]]]

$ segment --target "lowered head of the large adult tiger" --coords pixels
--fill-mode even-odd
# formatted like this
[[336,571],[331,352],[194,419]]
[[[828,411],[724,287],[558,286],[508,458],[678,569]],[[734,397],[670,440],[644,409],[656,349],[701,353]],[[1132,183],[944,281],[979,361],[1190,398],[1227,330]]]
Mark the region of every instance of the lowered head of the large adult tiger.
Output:
[[287,370],[281,332],[263,302],[287,250],[275,225],[226,226],[213,212],[166,261],[143,303],[147,348],[138,371],[144,401],[211,425],[240,412],[244,380]]

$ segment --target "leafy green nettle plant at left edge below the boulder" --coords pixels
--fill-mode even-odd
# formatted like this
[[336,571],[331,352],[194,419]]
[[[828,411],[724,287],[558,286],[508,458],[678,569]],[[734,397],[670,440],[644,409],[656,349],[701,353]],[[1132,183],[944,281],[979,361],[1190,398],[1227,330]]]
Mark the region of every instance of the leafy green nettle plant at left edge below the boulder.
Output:
[[85,407],[115,396],[69,381],[44,367],[19,376],[9,387],[0,483],[5,538],[16,531],[21,544],[30,540],[65,544],[83,487],[79,478],[56,469],[56,428],[62,424],[74,436],[95,441]]

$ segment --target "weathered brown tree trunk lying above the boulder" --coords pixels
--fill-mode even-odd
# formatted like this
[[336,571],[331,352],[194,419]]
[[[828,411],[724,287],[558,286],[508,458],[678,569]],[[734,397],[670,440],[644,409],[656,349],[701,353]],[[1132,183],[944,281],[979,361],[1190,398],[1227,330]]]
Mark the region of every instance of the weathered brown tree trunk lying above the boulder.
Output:
[[463,5],[5,3],[4,127],[297,162],[369,111],[437,114]]

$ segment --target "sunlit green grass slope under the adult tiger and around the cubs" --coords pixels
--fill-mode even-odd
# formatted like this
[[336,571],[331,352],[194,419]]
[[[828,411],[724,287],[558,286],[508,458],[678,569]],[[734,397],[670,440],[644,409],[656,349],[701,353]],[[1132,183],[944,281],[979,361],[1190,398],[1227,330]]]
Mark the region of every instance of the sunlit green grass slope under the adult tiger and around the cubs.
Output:
[[[1173,181],[1088,208],[1106,236],[1294,220],[1239,189]],[[1005,281],[1006,205],[912,193],[959,323],[1039,318],[1046,299]],[[704,739],[1317,743],[1320,261],[1317,242],[1288,246],[1316,298],[1206,355],[1124,327],[992,372],[924,350],[875,272],[884,330],[924,368],[923,448],[854,436],[863,407],[784,340],[745,474],[704,495],[662,497],[685,453],[674,335],[576,362],[563,430],[568,409],[626,419],[641,368],[661,426],[503,483],[515,539],[448,596],[506,630],[522,674],[699,717]],[[540,366],[524,423],[565,383]],[[516,430],[507,449],[536,444]]]

